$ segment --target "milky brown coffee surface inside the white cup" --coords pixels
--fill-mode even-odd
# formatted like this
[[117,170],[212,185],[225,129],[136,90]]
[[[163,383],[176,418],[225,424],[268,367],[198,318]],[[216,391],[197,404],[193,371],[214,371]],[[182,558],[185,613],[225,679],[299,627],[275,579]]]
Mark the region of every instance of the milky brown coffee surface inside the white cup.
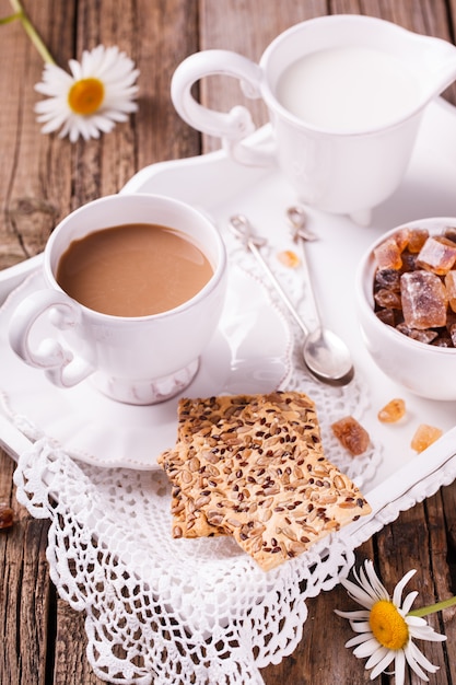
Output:
[[148,316],[196,295],[213,269],[184,233],[159,224],[124,224],[73,241],[60,257],[59,286],[91,310]]

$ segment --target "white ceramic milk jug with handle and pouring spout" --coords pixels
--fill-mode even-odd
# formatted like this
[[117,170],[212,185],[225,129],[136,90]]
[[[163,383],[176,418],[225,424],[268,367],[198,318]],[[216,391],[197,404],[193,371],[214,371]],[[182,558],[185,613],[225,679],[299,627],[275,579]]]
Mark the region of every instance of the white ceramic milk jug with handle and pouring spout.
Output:
[[[347,96],[342,91],[334,112],[328,112],[321,101],[325,120],[321,117],[319,123],[318,118],[306,118],[307,114],[294,114],[289,104],[284,106],[278,90],[291,65],[323,51],[332,55],[331,74],[337,88],[352,72],[358,73],[360,67],[367,70],[367,79],[356,96]],[[342,72],[341,63],[347,65]],[[315,73],[315,63],[312,69]],[[246,144],[245,138],[254,130],[248,109],[238,105],[224,114],[196,102],[192,85],[212,74],[235,77],[245,95],[265,101],[272,127],[271,152]],[[372,208],[389,197],[404,177],[425,105],[455,77],[456,48],[451,43],[373,16],[329,15],[302,22],[279,35],[258,65],[230,50],[190,55],[173,76],[172,100],[184,120],[200,131],[221,137],[238,162],[278,163],[300,201],[328,212],[348,213],[358,223],[367,224]],[[318,83],[314,84],[313,100],[315,94],[326,97],[335,91],[324,85],[319,89]],[[366,105],[366,98],[370,105],[383,92],[379,86],[385,96],[367,107],[366,118],[359,120],[361,105]],[[294,91],[289,93],[293,102],[299,95],[305,104],[303,88],[304,81],[299,78]],[[338,117],[346,106],[348,120],[341,129]],[[384,118],[372,118],[383,107]],[[328,123],[328,114],[334,115],[332,123]]]

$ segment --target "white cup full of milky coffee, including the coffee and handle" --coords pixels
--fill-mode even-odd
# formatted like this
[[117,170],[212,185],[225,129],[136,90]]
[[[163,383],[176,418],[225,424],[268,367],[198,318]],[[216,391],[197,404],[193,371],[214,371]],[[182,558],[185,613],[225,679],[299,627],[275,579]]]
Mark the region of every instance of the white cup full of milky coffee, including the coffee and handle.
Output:
[[[223,309],[226,252],[217,227],[189,205],[120,194],[56,227],[43,274],[46,288],[13,312],[13,350],[59,387],[91,376],[113,399],[155,404],[198,370]],[[44,339],[38,318],[47,320]]]

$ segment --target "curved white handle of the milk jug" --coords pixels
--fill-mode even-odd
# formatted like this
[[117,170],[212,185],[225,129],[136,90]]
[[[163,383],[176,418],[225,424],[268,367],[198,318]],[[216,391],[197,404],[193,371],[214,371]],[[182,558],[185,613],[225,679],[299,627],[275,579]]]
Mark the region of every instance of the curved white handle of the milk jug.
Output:
[[243,93],[261,97],[261,68],[231,50],[202,50],[187,57],[177,67],[171,81],[171,97],[178,115],[197,130],[222,139],[229,154],[242,164],[266,166],[274,163],[273,153],[257,150],[242,141],[255,131],[250,113],[236,105],[229,113],[215,112],[200,105],[191,95],[197,81],[209,76],[230,76],[241,81]]

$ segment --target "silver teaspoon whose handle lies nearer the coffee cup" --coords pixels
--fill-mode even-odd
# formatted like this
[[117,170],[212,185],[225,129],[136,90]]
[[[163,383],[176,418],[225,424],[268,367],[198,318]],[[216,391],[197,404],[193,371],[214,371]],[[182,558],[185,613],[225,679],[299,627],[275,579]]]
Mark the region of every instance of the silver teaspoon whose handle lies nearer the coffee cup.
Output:
[[[231,217],[230,225],[234,234],[256,257],[258,264],[265,270],[270,282],[276,288],[278,294],[303,332],[304,345],[302,347],[302,357],[312,375],[318,381],[330,385],[346,385],[350,383],[354,371],[346,345],[336,334],[323,328],[320,325],[318,325],[315,330],[309,330],[259,251],[259,247],[266,245],[267,241],[254,234],[252,224],[244,214]],[[302,227],[302,229],[304,229],[304,227]],[[308,233],[308,235],[311,235],[311,233]]]

